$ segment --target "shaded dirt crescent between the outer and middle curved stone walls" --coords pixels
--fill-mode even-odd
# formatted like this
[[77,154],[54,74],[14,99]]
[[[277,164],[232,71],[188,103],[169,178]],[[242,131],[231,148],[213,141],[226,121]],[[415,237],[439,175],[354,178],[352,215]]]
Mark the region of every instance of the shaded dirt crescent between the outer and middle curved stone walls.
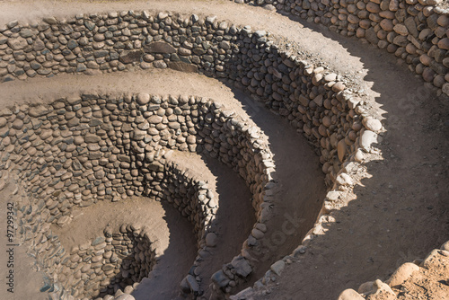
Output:
[[[254,123],[269,137],[280,184],[275,217],[269,220],[269,230],[261,241],[264,245],[262,251],[267,252],[257,256],[260,262],[251,277],[251,284],[262,277],[273,262],[294,251],[301,243],[316,220],[326,188],[318,157],[305,138],[296,133],[286,119],[266,110],[260,103],[238,90],[235,96]],[[286,231],[282,230],[283,226]],[[295,228],[295,232],[290,232],[291,228]]]

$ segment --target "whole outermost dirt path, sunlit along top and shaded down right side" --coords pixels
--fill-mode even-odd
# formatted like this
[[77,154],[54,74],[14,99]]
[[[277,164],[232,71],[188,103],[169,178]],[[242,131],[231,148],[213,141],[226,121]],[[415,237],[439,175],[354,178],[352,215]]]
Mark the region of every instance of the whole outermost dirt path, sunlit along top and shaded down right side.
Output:
[[[385,110],[387,133],[379,146],[384,159],[367,165],[373,177],[363,181],[364,186],[356,188],[357,199],[335,215],[337,223],[330,225],[327,233],[315,240],[300,260],[286,268],[283,277],[273,286],[274,291],[260,298],[335,298],[346,287],[357,287],[378,276],[387,278],[402,262],[422,257],[447,240],[449,207],[445,199],[449,197],[446,156],[449,153],[449,124],[447,115],[442,112],[447,110],[447,105],[428,93],[421,80],[411,75],[406,66],[398,66],[395,58],[384,51],[318,27],[304,28],[301,23],[277,13],[228,1],[217,1],[216,4],[197,1],[6,2],[0,4],[0,22],[31,20],[42,15],[148,7],[216,14],[219,19],[251,24],[254,28],[304,43],[311,51],[319,50],[335,70],[363,78],[365,93]],[[66,77],[70,83],[83,78]],[[51,80],[59,79],[7,84],[29,89],[32,94],[34,82]],[[197,80],[190,82],[190,88],[199,89],[200,83],[205,83]],[[63,81],[61,79],[61,83]],[[2,84],[0,89],[13,99],[16,92],[13,85],[7,84]],[[204,87],[206,93],[208,89],[209,86]],[[217,94],[232,93],[225,87],[218,91]],[[270,142],[275,146],[274,140]],[[273,152],[276,154],[275,150]],[[301,169],[296,166],[298,173],[303,172]]]

